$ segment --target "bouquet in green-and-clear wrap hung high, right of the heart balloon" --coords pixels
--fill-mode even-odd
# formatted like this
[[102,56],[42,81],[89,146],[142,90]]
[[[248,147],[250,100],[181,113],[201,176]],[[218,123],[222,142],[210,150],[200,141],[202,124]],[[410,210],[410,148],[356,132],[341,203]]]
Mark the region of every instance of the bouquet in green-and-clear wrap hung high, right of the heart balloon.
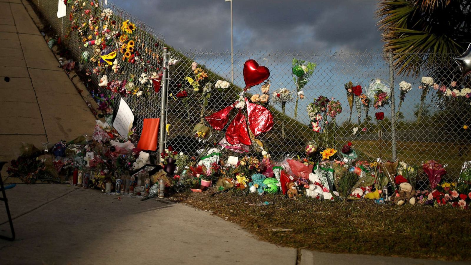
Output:
[[292,74],[297,91],[296,105],[294,106],[294,118],[298,115],[298,100],[304,99],[304,92],[302,89],[309,82],[309,78],[312,76],[312,73],[314,73],[314,69],[316,69],[316,64],[293,58]]

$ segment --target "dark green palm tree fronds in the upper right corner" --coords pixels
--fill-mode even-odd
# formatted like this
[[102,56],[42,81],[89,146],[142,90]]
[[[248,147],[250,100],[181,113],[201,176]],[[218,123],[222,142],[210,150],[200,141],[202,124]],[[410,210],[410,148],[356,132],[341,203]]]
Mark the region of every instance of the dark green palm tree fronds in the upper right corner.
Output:
[[398,74],[422,71],[442,79],[455,68],[450,54],[471,42],[471,0],[380,0],[376,16],[385,42],[394,52]]

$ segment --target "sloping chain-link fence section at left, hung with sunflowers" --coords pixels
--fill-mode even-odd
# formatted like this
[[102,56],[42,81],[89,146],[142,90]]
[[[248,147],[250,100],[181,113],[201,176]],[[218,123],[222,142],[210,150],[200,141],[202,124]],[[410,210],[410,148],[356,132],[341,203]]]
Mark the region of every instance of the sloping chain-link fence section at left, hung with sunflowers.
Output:
[[[130,15],[127,11],[114,5],[111,1],[70,1],[72,3],[69,3],[67,6],[67,16],[62,18],[57,18],[57,1],[30,0],[30,2],[49,22],[50,27],[61,38],[70,55],[79,62],[79,67],[83,70],[82,72],[87,75],[85,78],[90,80],[87,85],[91,86],[88,89],[92,96],[100,97],[100,94],[104,94],[105,97],[114,96],[114,113],[118,110],[119,102],[123,95],[122,93],[114,93],[105,88],[99,89],[98,83],[100,83],[100,78],[103,75],[106,75],[110,82],[112,80],[126,80],[128,82],[134,81],[134,83],[138,84],[138,78],[145,71],[146,73],[161,71],[162,48],[164,46],[163,35],[138,18]],[[138,51],[140,59],[136,60],[136,63],[124,63],[122,62],[122,56],[118,53],[116,60],[120,61],[121,68],[116,73],[114,73],[111,67],[97,71],[97,64],[84,59],[83,54],[87,52],[89,57],[93,57],[93,54],[96,53],[94,45],[84,46],[83,38],[95,40],[95,32],[101,34],[105,21],[101,14],[107,8],[112,10],[112,15],[109,19],[112,21],[112,25],[110,25],[112,32],[119,31],[120,26],[126,20],[136,25],[136,30],[132,33],[132,40],[136,43],[135,50]],[[89,24],[91,17],[96,19]],[[93,25],[96,30],[90,29],[89,25]],[[131,34],[129,34],[129,37],[131,37]],[[111,45],[117,46],[117,43],[114,42]],[[116,48],[119,49],[120,47]],[[146,86],[146,89],[154,90],[151,82],[148,82]],[[160,96],[160,93],[145,93],[144,96],[137,97],[131,93],[123,97],[134,113],[138,135],[142,129],[143,118],[160,117]]]

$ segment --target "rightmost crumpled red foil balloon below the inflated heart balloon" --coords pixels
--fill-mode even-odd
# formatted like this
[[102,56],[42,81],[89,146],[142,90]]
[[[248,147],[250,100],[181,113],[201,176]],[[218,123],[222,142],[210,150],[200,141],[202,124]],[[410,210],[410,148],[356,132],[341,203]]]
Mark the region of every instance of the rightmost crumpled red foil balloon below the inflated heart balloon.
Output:
[[271,112],[257,104],[249,103],[245,99],[247,104],[247,115],[249,120],[249,128],[255,136],[259,136],[262,132],[268,132],[273,127],[273,116]]

